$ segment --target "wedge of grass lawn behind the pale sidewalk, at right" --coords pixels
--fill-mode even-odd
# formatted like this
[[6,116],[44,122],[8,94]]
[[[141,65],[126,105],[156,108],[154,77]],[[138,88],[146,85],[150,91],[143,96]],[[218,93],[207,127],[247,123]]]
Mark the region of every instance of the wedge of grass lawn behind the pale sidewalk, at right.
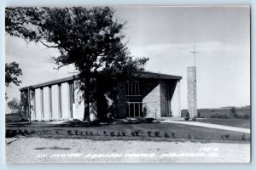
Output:
[[230,126],[230,127],[243,127],[250,128],[251,120],[250,119],[218,119],[218,118],[206,118],[206,119],[197,119],[197,122],[207,122],[212,124]]

